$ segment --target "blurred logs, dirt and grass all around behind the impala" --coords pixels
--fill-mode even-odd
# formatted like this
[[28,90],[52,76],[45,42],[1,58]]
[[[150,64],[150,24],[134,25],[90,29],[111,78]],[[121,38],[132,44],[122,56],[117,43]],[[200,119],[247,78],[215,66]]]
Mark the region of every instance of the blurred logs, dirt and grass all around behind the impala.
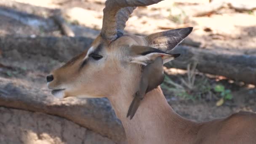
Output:
[[[109,101],[56,99],[46,75],[99,35],[105,0],[0,0],[0,144],[123,144]],[[165,64],[161,88],[198,122],[256,112],[256,1],[164,0],[138,7],[125,31],[194,27]]]

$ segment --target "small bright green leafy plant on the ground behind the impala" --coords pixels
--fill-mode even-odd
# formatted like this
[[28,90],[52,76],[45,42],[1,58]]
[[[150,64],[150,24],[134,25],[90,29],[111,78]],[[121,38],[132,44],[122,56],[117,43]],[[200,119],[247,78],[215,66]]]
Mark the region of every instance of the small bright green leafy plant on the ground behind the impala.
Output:
[[231,91],[229,89],[225,89],[223,85],[216,85],[214,87],[214,91],[219,93],[221,96],[221,98],[216,102],[216,106],[221,106],[222,104],[224,104],[225,100],[233,99]]

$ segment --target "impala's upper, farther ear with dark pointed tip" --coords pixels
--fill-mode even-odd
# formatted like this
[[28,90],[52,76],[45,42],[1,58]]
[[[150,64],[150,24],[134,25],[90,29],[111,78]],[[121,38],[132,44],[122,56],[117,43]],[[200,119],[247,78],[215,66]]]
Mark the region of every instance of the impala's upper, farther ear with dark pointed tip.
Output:
[[181,43],[181,41],[184,40],[190,32],[192,32],[192,30],[193,27],[172,29],[149,35],[145,37],[145,40],[147,41],[148,46],[168,52]]

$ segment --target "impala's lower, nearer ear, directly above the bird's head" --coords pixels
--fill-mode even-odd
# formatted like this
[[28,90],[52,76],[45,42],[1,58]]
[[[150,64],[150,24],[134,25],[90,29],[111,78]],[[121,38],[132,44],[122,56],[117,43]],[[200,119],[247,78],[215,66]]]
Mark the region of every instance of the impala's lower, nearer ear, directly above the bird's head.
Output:
[[163,63],[173,60],[174,58],[180,56],[180,54],[171,54],[161,51],[156,48],[151,48],[147,46],[132,45],[129,48],[129,62],[147,65],[155,61],[159,56],[162,57]]

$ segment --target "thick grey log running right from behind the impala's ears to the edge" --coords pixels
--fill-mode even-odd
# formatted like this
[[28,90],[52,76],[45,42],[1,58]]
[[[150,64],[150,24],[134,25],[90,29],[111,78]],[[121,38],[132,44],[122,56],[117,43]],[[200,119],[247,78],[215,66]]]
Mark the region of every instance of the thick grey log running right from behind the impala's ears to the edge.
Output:
[[233,80],[256,85],[255,55],[187,46],[178,46],[172,53],[181,53],[181,56],[165,64],[168,68],[186,69],[187,64],[195,61],[200,72],[222,75]]

